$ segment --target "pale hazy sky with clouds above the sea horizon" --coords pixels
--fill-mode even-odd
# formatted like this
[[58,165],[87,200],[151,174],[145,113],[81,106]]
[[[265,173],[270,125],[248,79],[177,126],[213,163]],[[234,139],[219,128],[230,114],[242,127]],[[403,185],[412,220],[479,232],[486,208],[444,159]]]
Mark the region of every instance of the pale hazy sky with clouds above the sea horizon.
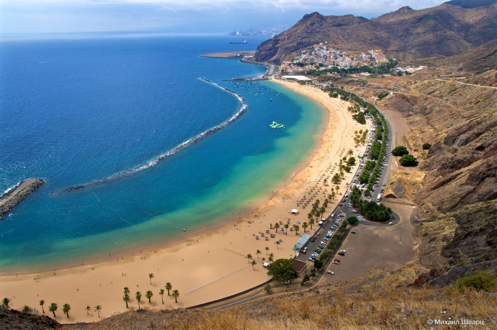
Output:
[[290,26],[304,14],[372,18],[444,0],[0,0],[0,32],[155,30],[228,33]]

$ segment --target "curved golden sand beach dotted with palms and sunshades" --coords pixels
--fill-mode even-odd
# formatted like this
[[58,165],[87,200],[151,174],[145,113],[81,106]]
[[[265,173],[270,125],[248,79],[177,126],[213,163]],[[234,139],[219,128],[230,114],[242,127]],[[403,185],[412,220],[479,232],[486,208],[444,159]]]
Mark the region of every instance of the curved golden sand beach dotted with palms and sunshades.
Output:
[[[122,299],[124,287],[129,287],[131,291],[130,308],[138,308],[135,292],[140,291],[141,307],[171,309],[216,300],[267,281],[269,276],[262,267],[262,258],[267,260],[270,253],[274,254],[275,260],[294,256],[292,248],[304,232],[302,223],[308,221],[311,203],[317,198],[323,201],[334,188],[331,177],[337,172],[338,159],[346,156],[349,149],[356,155],[366,148],[365,145],[355,148],[354,131],[370,130],[369,122],[360,125],[352,120],[351,114],[347,112],[348,102],[330,98],[315,87],[281,80],[276,82],[321,103],[329,112],[325,116],[328,123],[320,143],[306,160],[305,166],[295,169],[283,188],[275,191],[257,209],[221,228],[173,245],[144,250],[133,256],[116,256],[112,261],[36,274],[1,276],[0,298],[10,298],[14,309],[20,310],[28,305],[36,308],[39,314],[39,301],[44,300],[45,314],[52,317],[48,307],[51,303],[57,303],[58,322],[92,322],[98,320],[94,311],[96,305],[101,306],[100,318],[127,310]],[[354,166],[352,173],[357,166]],[[328,179],[327,185],[323,182],[325,178]],[[338,196],[329,203],[325,214],[330,214],[334,209],[346,191],[346,183],[351,179],[352,174],[347,173],[340,184]],[[305,201],[298,205],[297,200]],[[307,201],[310,202],[306,208],[302,208]],[[293,208],[299,210],[297,215],[290,214]],[[287,235],[282,233],[281,229],[288,221],[290,228],[297,221],[300,222],[299,235],[293,230],[288,231]],[[270,229],[271,225],[280,222],[282,225],[278,230],[274,227]],[[314,229],[316,225],[313,226],[313,232]],[[266,230],[275,234],[275,237],[270,237]],[[276,241],[279,240],[281,244],[277,245]],[[257,254],[257,250],[261,253]],[[257,262],[253,267],[246,258],[248,254]],[[149,273],[154,274],[152,279]],[[164,289],[166,282],[172,284],[173,290],[179,291],[177,304],[172,296],[167,295],[167,291],[162,304],[159,291]],[[151,303],[145,297],[148,290],[154,294]],[[69,318],[62,312],[64,304],[71,306]],[[91,307],[89,315],[86,306]]]

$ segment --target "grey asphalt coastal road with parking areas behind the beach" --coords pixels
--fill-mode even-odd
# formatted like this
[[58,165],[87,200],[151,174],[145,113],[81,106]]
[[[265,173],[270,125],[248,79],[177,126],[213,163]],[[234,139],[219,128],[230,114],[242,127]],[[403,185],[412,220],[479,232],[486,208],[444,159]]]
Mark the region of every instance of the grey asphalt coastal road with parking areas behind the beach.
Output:
[[[386,164],[386,165],[384,165],[384,168],[385,167],[388,167],[388,168],[384,172],[382,172],[382,174],[380,175],[380,177],[378,179],[379,180],[378,182],[382,183],[382,185],[378,184],[376,189],[373,192],[371,192],[372,200],[376,200],[375,196],[377,196],[377,194],[379,194],[380,190],[386,186],[386,184],[388,182],[388,178],[390,176],[390,168],[392,167],[392,162],[393,162],[393,157],[392,157],[391,151],[393,149],[393,141],[395,141],[395,131],[393,130],[393,126],[392,126],[391,122],[388,120],[388,118],[385,116],[385,114],[383,114],[383,116],[385,117],[385,120],[387,122],[388,132],[389,132],[387,150],[386,150],[385,158],[383,160],[383,164]],[[373,135],[371,135],[371,136],[373,136]],[[371,142],[372,141],[369,142],[368,148],[370,147]],[[364,163],[365,163],[365,161],[366,161],[366,158],[363,159]],[[357,169],[356,173],[354,174],[354,178],[357,178],[360,175],[359,172],[360,172],[360,169]],[[347,193],[350,192],[350,187],[352,187],[351,183],[348,185],[348,188],[343,196],[346,196]],[[343,222],[345,222],[347,218],[349,218],[351,216],[357,216],[357,214],[355,214],[353,212],[354,209],[348,207],[347,200],[349,200],[348,197],[343,197],[341,199],[341,201],[339,202],[339,205],[341,204],[342,206],[336,206],[334,208],[333,212],[331,213],[331,215],[328,216],[326,221],[321,226],[316,226],[317,230],[314,233],[314,235],[312,235],[312,238],[317,238],[317,239],[315,240],[315,242],[309,241],[306,244],[306,247],[309,251],[314,251],[318,247],[318,245],[320,245],[319,238],[326,236],[326,233],[328,232],[328,229],[326,229],[326,227],[330,225],[331,220],[339,218],[339,219],[342,219],[342,222],[340,224],[343,224]],[[359,224],[357,226],[390,227],[390,226],[398,224],[400,221],[401,221],[400,215],[395,213],[395,212],[392,212],[392,218],[391,218],[390,222],[374,222],[374,221],[366,220],[364,218],[359,218]],[[334,224],[334,220],[332,221],[332,223]],[[340,251],[340,248],[341,248],[343,242],[348,237],[350,232],[352,230],[354,230],[355,227],[356,226],[351,226],[351,227],[347,228],[345,230],[345,232],[343,233],[340,241],[336,244],[336,246],[332,250],[328,250],[327,247],[325,246],[325,249],[323,249],[323,253],[325,253],[325,251],[329,251],[330,256],[328,257],[326,262],[323,264],[323,267],[321,267],[321,269],[316,272],[316,276],[314,276],[314,278],[311,278],[311,280],[304,285],[301,285],[303,276],[292,281],[291,284],[284,284],[284,282],[272,281],[269,283],[269,285],[271,286],[271,289],[269,291],[264,289],[264,287],[265,287],[265,283],[264,283],[262,285],[259,285],[255,288],[253,288],[252,290],[249,290],[248,292],[244,292],[244,293],[232,296],[230,298],[221,299],[221,300],[218,300],[214,303],[206,303],[206,304],[202,304],[199,306],[194,306],[192,308],[222,310],[222,309],[228,309],[228,308],[241,306],[241,305],[244,305],[246,303],[258,301],[258,300],[270,299],[272,301],[274,298],[277,298],[277,297],[283,298],[283,295],[285,295],[285,294],[299,293],[301,291],[310,290],[310,289],[314,288],[315,286],[319,285],[319,283],[322,281],[323,277],[325,275],[327,275],[328,268],[330,267],[333,259],[336,258],[336,255]],[[335,232],[334,233],[334,235],[335,235],[336,230],[333,230],[333,232]],[[329,241],[327,241],[326,243],[328,245]],[[301,254],[300,256],[306,256],[306,255]]]

